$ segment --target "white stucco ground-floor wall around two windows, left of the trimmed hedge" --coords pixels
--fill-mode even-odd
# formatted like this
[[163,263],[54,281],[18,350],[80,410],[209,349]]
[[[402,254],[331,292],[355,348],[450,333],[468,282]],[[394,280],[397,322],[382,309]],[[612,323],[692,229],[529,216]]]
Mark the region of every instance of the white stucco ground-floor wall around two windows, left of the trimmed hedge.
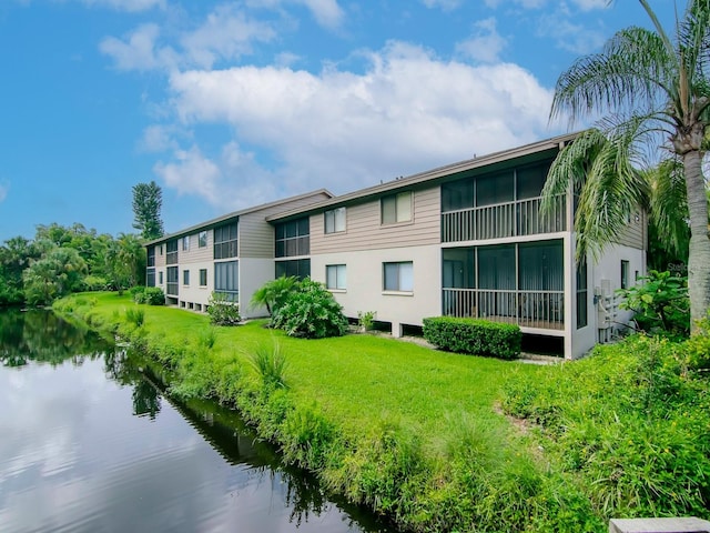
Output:
[[[414,290],[383,290],[383,263],[413,262]],[[347,286],[333,291],[346,316],[357,318],[358,311],[376,311],[376,320],[392,322],[394,335],[402,324],[422,325],[425,316],[442,313],[442,251],[439,245],[395,248],[328,253],[311,257],[311,278],[325,283],[328,264],[345,264]]]

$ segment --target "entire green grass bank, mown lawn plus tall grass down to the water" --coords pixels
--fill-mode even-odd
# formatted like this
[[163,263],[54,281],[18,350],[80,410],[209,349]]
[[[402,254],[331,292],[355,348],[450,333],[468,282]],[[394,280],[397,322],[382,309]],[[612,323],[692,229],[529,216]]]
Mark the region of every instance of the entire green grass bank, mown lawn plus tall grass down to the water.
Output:
[[[55,309],[130,339],[172,369],[173,394],[239,409],[287,462],[403,531],[605,531],[629,509],[594,496],[594,474],[569,467],[582,453],[579,442],[560,439],[567,395],[584,399],[588,390],[579,386],[601,391],[609,379],[591,372],[594,358],[588,366],[536,366],[373,335],[298,340],[258,321],[211,328],[204,315],[136,306],[113,293],[74,295]],[[268,358],[261,372],[253,364],[254,353],[274,345],[285,356],[285,388],[270,378]],[[627,375],[627,366],[611,372]],[[567,369],[591,378],[567,381]],[[598,409],[613,394],[607,388],[589,402]],[[530,426],[503,414],[501,404]],[[546,412],[556,414],[555,431]],[[590,428],[595,413],[587,411]]]

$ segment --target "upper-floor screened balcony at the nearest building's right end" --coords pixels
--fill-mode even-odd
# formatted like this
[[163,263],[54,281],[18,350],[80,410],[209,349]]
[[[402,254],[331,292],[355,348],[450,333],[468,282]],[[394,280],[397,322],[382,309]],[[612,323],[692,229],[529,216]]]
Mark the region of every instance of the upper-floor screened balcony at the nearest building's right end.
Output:
[[567,230],[567,198],[540,213],[550,161],[462,178],[442,185],[442,242],[478,241]]

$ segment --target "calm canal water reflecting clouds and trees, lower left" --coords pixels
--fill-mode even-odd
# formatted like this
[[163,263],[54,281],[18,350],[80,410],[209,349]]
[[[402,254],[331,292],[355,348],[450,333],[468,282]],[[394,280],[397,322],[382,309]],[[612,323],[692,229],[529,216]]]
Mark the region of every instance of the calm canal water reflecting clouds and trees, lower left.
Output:
[[0,311],[0,533],[384,532],[231,411],[51,312]]

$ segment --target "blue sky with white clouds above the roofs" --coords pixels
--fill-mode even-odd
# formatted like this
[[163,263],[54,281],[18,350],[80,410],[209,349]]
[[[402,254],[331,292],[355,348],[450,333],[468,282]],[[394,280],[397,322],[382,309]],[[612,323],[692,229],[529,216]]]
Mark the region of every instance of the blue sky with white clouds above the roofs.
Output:
[[631,24],[635,0],[0,0],[0,242],[133,232],[139,182],[173,232],[562,133],[557,77]]

